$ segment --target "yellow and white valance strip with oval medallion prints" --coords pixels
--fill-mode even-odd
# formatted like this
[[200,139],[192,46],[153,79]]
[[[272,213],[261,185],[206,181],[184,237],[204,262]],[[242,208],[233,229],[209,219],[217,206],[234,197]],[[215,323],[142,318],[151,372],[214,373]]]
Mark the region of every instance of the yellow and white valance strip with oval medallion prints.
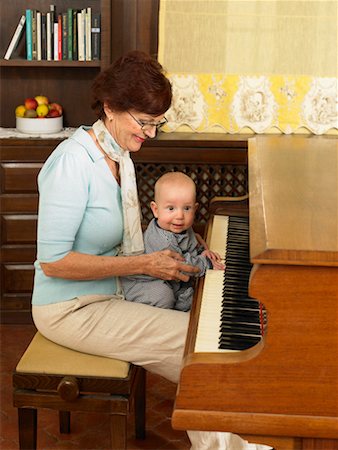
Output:
[[336,77],[169,73],[164,131],[337,134]]

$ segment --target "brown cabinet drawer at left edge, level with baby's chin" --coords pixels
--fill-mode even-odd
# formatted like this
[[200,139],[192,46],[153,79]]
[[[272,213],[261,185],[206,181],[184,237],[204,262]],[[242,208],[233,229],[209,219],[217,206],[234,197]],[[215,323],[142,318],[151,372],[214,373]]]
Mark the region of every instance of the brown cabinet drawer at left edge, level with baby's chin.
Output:
[[3,215],[1,217],[2,244],[35,243],[37,215]]

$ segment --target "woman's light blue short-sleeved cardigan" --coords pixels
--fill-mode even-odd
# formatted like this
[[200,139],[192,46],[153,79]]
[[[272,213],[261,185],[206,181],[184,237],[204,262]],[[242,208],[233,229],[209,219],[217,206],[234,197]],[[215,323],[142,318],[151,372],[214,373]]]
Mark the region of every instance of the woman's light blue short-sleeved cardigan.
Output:
[[116,279],[46,277],[41,262],[70,251],[115,256],[123,234],[121,192],[104,155],[78,128],[45,162],[38,176],[37,261],[32,303],[46,305],[90,294],[115,294]]

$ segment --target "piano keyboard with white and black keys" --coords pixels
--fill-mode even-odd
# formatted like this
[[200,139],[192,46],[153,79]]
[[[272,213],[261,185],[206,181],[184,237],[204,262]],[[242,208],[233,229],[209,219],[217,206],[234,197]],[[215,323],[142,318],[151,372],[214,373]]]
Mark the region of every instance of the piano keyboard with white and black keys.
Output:
[[214,216],[209,247],[224,255],[226,269],[206,273],[195,352],[233,352],[252,347],[262,337],[265,312],[248,296],[252,267],[248,218]]

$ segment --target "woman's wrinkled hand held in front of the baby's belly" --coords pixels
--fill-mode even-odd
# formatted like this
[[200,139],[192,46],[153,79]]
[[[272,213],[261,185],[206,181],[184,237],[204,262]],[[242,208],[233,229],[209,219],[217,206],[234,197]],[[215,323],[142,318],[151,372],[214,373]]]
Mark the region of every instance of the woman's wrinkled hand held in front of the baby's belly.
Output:
[[194,275],[199,272],[198,267],[186,264],[184,258],[172,250],[150,253],[147,255],[147,259],[143,273],[154,278],[188,281],[189,274]]

